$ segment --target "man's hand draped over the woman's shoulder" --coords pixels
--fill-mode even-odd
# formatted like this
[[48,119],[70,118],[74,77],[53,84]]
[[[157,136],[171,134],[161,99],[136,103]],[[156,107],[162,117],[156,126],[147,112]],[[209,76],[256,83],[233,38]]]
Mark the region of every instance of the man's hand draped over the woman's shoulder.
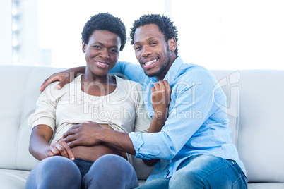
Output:
[[47,78],[44,83],[42,83],[42,86],[40,87],[40,92],[43,92],[47,85],[57,80],[59,80],[57,89],[60,90],[62,87],[64,87],[64,85],[70,83],[75,78],[75,76],[80,75],[81,73],[85,73],[85,66],[71,68],[66,71],[54,73],[49,78]]

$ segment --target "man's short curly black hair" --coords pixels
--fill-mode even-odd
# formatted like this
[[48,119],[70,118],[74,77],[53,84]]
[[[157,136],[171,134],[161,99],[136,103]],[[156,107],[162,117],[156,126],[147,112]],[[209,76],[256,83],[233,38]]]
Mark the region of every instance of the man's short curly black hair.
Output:
[[[172,39],[172,37],[174,37],[177,42],[177,28],[170,18],[167,16],[160,16],[158,14],[147,14],[134,21],[133,28],[131,28],[130,31],[131,44],[134,44],[134,34],[136,29],[147,24],[157,25],[160,32],[164,35],[166,42],[169,39]],[[175,49],[174,54],[177,55],[177,48]]]

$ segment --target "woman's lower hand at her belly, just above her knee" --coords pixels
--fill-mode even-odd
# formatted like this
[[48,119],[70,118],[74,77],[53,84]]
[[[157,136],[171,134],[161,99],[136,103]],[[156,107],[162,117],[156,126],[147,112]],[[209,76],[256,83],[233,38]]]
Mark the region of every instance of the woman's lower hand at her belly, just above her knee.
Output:
[[46,157],[63,156],[74,160],[74,154],[64,140],[59,140],[45,150]]

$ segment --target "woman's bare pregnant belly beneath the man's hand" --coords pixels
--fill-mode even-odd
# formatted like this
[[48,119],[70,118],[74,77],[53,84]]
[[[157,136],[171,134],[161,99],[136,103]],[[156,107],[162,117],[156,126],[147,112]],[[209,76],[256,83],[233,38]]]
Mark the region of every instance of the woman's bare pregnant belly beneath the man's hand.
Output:
[[[108,125],[100,125],[103,128],[109,128],[112,129],[112,127]],[[95,145],[95,146],[77,146],[71,148],[73,151],[73,154],[75,158],[79,159],[86,159],[90,161],[95,161],[97,158],[101,157],[102,155],[105,154],[117,154],[121,157],[126,157],[125,152],[121,152],[119,150],[116,150],[114,147],[110,147],[108,145]]]

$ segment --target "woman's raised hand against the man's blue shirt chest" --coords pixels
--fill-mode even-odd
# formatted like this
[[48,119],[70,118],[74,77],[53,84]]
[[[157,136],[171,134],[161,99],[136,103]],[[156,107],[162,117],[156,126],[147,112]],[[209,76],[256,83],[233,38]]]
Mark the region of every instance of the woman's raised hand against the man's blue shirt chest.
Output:
[[160,80],[151,87],[151,103],[155,118],[167,118],[171,92],[167,80]]

